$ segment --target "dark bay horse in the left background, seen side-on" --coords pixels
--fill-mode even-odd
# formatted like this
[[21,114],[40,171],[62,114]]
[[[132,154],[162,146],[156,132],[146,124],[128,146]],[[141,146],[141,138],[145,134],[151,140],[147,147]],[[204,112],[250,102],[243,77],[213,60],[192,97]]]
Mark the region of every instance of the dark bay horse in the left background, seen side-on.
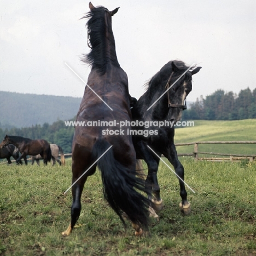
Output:
[[6,135],[0,144],[0,148],[7,146],[8,144],[14,144],[19,149],[21,155],[16,159],[16,163],[19,164],[21,158],[24,159],[27,165],[27,155],[40,154],[44,159],[44,164],[51,160],[50,144],[44,139],[29,139],[20,136],[8,136]]

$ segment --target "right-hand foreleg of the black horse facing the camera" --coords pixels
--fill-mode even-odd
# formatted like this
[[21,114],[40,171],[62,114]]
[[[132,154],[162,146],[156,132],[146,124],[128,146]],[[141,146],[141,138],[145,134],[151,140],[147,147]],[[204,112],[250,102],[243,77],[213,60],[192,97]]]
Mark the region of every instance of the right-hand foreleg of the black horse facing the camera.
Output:
[[185,215],[189,215],[189,213],[191,212],[191,205],[187,199],[188,194],[185,189],[185,184],[183,182],[184,181],[184,167],[178,159],[177,151],[176,151],[174,144],[171,145],[170,150],[168,150],[168,155],[166,157],[173,165],[176,174],[181,178],[181,179],[178,178],[179,188],[180,188],[179,195],[181,195],[181,198],[182,198],[181,203],[179,203],[179,208],[181,208],[181,211]]

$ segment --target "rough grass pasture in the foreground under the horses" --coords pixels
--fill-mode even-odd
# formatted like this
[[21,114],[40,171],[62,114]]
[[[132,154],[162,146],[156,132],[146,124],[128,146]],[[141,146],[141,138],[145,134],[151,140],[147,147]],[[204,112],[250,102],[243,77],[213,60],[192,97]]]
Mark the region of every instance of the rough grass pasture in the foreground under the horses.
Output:
[[65,167],[0,165],[1,255],[256,255],[256,164],[182,158],[190,216],[179,212],[177,178],[160,165],[165,207],[149,233],[133,236],[103,199],[100,173],[86,182],[71,236],[71,161]]

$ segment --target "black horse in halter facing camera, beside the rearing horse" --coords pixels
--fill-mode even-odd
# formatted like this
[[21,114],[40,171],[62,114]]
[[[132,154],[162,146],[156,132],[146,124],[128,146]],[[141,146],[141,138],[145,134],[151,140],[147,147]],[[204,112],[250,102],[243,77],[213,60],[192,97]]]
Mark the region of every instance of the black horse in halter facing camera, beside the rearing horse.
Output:
[[[201,67],[189,69],[182,61],[170,61],[156,73],[148,83],[148,89],[132,108],[133,120],[145,121],[171,121],[175,124],[181,119],[182,110],[186,109],[186,97],[192,90],[192,75],[199,72]],[[187,69],[189,69],[187,71]],[[185,73],[185,71],[187,71]],[[185,73],[185,74],[184,74]],[[177,81],[177,79],[179,80]],[[169,89],[170,88],[170,89]],[[167,91],[168,90],[168,91]],[[167,92],[166,92],[167,91]],[[159,98],[163,95],[161,98]],[[159,98],[159,100],[158,100]],[[152,104],[155,103],[153,106]],[[152,106],[150,109],[148,109]],[[148,109],[148,110],[147,110]],[[171,126],[171,125],[170,125]],[[146,190],[148,199],[156,210],[161,210],[162,199],[158,184],[159,157],[164,155],[173,165],[175,172],[184,181],[184,168],[178,160],[174,146],[174,126],[154,127],[153,125],[144,130],[157,130],[157,135],[133,136],[133,144],[136,149],[137,159],[143,159],[148,166]],[[142,127],[137,127],[141,130]],[[156,156],[151,149],[158,155]],[[172,174],[171,174],[172,175]],[[184,182],[179,179],[180,195],[182,202],[179,204],[184,214],[191,211],[187,200],[187,191]],[[153,194],[153,195],[152,195]]]

